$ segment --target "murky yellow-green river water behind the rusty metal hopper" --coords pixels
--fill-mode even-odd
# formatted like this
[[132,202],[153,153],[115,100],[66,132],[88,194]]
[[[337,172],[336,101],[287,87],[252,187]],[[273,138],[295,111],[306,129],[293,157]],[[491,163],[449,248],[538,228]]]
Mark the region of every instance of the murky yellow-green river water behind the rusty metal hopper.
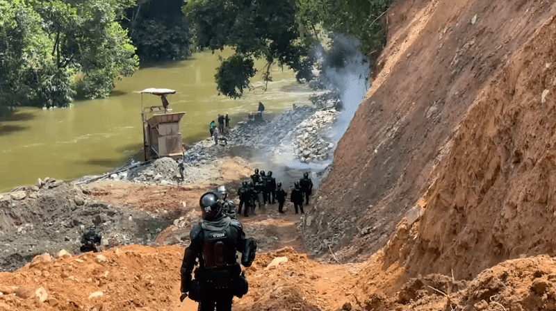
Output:
[[[186,112],[180,132],[188,143],[208,137],[208,124],[217,121],[218,113],[229,113],[233,126],[259,101],[270,114],[309,103],[308,87],[297,84],[293,72],[276,67],[266,92],[257,88],[237,100],[219,96],[214,84],[218,55],[197,53],[190,60],[140,69],[117,81],[108,99],[79,101],[65,109],[20,108],[11,120],[0,121],[0,193],[37,178],[77,178],[122,165],[142,146],[141,107],[161,104],[159,96],[134,93],[147,87],[177,90],[168,101],[172,112]],[[262,69],[263,63],[256,67]],[[254,85],[260,80],[258,74]]]

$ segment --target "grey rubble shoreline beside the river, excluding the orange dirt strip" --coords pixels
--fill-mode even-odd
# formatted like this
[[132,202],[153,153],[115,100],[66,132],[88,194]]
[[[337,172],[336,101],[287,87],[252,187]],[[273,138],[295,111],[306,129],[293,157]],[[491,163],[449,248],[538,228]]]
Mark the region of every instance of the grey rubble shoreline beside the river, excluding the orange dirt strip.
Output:
[[[225,140],[220,140],[218,145],[209,137],[190,146],[183,157],[183,180],[179,178],[178,162],[171,158],[147,164],[133,163],[128,169],[106,174],[104,179],[142,185],[195,185],[199,180],[213,178],[208,167],[214,171],[214,166],[219,165],[218,159],[229,155],[249,157],[255,154],[264,158],[278,157],[279,161],[279,157],[289,153],[288,157],[297,159],[298,163],[322,163],[331,158],[334,150],[327,131],[337,114],[335,110],[303,106],[286,110],[272,121],[242,122],[223,135]],[[298,172],[294,173],[292,178],[297,177]],[[172,224],[176,228],[186,228],[191,221],[199,220],[193,215],[195,213],[179,215],[181,211],[178,210],[137,210],[133,206],[115,206],[91,199],[90,189],[95,182],[85,184],[88,180],[99,180],[98,177],[87,176],[72,183],[54,178],[38,179],[34,185],[0,194],[2,270],[22,267],[41,253],[57,253],[60,249],[77,253],[81,233],[91,222],[101,229],[103,245],[110,247],[150,245]],[[176,239],[170,244],[185,242]]]

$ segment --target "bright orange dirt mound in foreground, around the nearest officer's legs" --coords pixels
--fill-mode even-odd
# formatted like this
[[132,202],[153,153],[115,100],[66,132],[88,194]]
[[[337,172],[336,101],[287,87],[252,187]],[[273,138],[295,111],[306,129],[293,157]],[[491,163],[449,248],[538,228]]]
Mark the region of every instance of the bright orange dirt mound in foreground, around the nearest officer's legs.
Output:
[[[194,310],[193,301],[178,300],[182,258],[178,246],[138,245],[38,256],[16,272],[0,273],[0,310]],[[275,258],[281,263],[272,267]],[[291,248],[262,253],[247,269],[250,292],[234,299],[234,310],[336,310],[345,293],[333,287],[344,287],[352,275]]]

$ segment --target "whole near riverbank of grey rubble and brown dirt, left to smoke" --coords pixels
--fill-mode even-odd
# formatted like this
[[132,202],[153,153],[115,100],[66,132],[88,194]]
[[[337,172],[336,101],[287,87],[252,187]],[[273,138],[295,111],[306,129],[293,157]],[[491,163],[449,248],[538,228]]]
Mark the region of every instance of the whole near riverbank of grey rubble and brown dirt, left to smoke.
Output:
[[[313,182],[318,185],[321,168],[327,166],[319,158],[325,158],[325,151],[327,156],[332,153],[325,140],[334,115],[333,110],[302,106],[286,110],[272,121],[240,123],[217,145],[209,137],[190,146],[184,156],[183,179],[179,178],[178,162],[161,158],[146,165],[131,165],[118,174],[106,174],[106,178],[92,183],[85,181],[98,176],[70,183],[44,178],[35,185],[0,194],[0,244],[4,246],[0,266],[17,269],[35,255],[60,249],[77,253],[81,233],[93,223],[103,234],[104,247],[186,245],[190,224],[200,219],[199,196],[227,185],[237,201],[235,194],[241,180],[249,178],[255,167],[273,170],[273,176],[288,192],[306,170],[315,173]],[[316,143],[303,145],[309,141]],[[310,155],[286,155],[296,148],[304,148]],[[282,161],[285,158],[290,162]],[[288,208],[290,203],[286,203]],[[273,212],[276,215],[270,212],[272,216],[265,217],[279,219],[277,211]],[[263,234],[261,226],[250,226],[247,232],[259,237],[262,249],[272,249],[276,244],[273,237]],[[291,239],[296,240],[295,236]],[[292,246],[302,249],[300,240]]]

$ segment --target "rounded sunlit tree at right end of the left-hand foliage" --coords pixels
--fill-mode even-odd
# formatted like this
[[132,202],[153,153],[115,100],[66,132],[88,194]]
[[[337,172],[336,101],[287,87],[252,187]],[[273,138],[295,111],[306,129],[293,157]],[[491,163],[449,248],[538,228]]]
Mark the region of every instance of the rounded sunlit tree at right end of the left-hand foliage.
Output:
[[108,96],[115,78],[138,68],[135,47],[117,19],[131,0],[32,1],[54,41],[58,69],[79,72],[78,92],[85,98]]

